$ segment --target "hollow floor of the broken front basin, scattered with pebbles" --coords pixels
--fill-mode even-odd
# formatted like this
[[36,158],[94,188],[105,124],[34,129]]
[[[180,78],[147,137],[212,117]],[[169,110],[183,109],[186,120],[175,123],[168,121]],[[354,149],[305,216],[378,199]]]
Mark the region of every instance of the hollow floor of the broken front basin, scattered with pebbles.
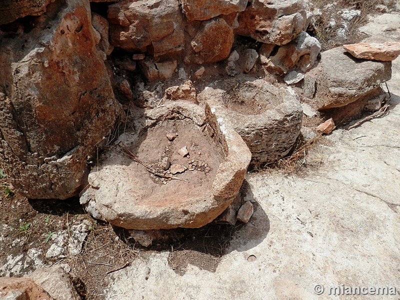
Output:
[[[178,135],[173,141],[169,141],[166,133],[172,128]],[[189,151],[189,158],[178,154],[178,150],[184,146]],[[154,168],[157,168],[160,163],[159,159],[168,156],[171,165],[181,165],[187,168],[184,172],[176,173],[174,176],[189,181],[177,179],[164,181],[163,178],[154,176],[143,165],[126,156],[124,158],[124,161],[128,164],[126,176],[136,187],[129,188],[128,191],[132,199],[137,200],[134,204],[135,209],[137,209],[137,205],[140,206],[141,201],[145,201],[146,206],[150,204],[168,206],[167,203],[171,202],[174,205],[181,203],[184,210],[185,205],[191,205],[194,199],[209,196],[213,178],[219,163],[222,161],[221,151],[215,149],[211,138],[190,120],[160,122],[154,127],[143,130],[137,142],[128,146],[128,148],[140,160]],[[206,163],[207,167],[210,168],[209,172],[205,172],[204,167],[189,170],[189,163],[192,160],[197,165],[202,162]],[[198,170],[198,168],[202,170]],[[163,182],[166,182],[166,184]]]

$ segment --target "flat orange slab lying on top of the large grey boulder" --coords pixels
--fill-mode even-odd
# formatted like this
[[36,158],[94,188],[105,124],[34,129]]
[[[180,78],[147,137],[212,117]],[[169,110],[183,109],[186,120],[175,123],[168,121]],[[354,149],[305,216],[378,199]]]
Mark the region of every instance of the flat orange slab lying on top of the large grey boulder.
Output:
[[384,43],[359,42],[343,45],[343,48],[356,58],[390,61],[400,54],[400,42],[386,41]]

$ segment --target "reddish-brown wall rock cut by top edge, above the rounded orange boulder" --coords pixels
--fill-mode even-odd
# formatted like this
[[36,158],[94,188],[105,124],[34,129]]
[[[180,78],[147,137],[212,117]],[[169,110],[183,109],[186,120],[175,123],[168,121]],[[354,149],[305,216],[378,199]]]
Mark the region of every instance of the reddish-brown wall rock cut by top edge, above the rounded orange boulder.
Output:
[[208,20],[220,14],[243,11],[247,0],[181,0],[182,11],[188,20]]

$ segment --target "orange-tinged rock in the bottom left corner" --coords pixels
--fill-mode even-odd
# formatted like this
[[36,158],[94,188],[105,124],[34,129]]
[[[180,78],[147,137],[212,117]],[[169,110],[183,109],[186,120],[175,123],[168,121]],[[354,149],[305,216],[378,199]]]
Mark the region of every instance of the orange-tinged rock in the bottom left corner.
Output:
[[27,277],[0,277],[0,298],[54,300],[43,288]]

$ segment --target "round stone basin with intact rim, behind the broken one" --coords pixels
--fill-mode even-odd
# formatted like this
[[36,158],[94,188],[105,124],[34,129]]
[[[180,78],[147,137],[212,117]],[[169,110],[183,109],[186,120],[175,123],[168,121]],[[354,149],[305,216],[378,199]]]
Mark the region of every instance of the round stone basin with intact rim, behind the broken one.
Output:
[[253,164],[284,157],[300,133],[301,105],[294,91],[286,87],[239,77],[215,82],[198,97],[223,105],[222,114],[246,142]]

